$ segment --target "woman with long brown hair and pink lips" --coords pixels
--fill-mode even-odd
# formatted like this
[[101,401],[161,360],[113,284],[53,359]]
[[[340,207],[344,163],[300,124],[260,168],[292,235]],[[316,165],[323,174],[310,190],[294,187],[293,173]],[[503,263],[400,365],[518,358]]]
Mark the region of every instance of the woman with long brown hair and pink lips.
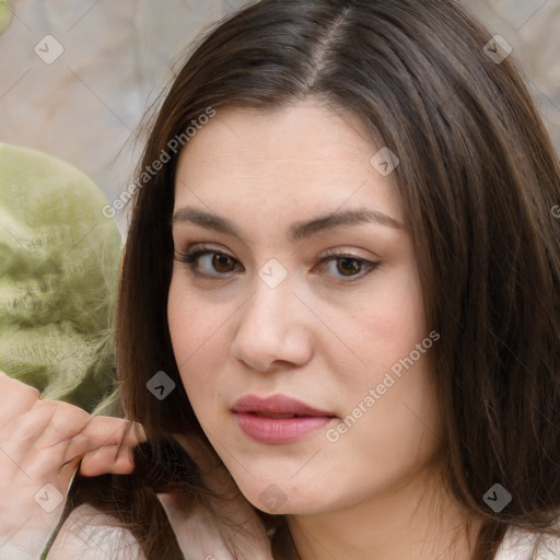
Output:
[[118,306],[156,453],[72,503],[130,557],[178,557],[154,492],[185,558],[560,555],[560,171],[500,48],[452,1],[265,0],[189,57]]

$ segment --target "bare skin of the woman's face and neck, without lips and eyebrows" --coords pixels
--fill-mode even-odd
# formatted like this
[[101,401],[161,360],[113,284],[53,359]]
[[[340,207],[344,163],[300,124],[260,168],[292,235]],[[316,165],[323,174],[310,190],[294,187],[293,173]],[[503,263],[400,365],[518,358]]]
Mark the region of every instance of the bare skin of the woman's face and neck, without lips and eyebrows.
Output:
[[[466,518],[436,463],[442,420],[429,352],[335,443],[325,429],[257,443],[231,410],[244,395],[282,394],[331,412],[332,429],[428,337],[396,174],[370,163],[381,147],[352,115],[312,98],[273,113],[220,108],[180,156],[175,214],[211,212],[240,235],[174,222],[172,342],[208,439],[253,505],[289,516],[302,560],[467,559]],[[362,207],[400,226],[287,237],[294,222]],[[179,258],[200,244],[231,259],[212,266],[213,254],[202,256],[192,266],[206,276],[196,276]],[[324,260],[328,249],[378,265],[352,272],[342,257]],[[276,288],[258,276],[270,258],[288,272]],[[270,485],[284,500],[273,510],[264,499]]]

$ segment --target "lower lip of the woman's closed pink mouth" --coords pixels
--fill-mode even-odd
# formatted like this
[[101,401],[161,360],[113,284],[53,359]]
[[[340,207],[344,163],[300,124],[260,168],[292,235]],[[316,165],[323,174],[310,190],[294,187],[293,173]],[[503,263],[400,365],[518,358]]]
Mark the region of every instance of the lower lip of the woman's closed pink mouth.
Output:
[[235,412],[235,418],[245,435],[268,445],[299,442],[322,430],[332,420],[326,416],[269,418],[247,412]]

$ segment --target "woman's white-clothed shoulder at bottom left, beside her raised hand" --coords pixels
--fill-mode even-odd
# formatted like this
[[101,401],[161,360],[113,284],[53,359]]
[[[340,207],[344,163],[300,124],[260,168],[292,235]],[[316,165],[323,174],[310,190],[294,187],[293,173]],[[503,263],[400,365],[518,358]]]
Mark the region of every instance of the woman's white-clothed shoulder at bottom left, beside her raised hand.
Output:
[[130,530],[92,505],[80,505],[66,520],[47,560],[145,560]]

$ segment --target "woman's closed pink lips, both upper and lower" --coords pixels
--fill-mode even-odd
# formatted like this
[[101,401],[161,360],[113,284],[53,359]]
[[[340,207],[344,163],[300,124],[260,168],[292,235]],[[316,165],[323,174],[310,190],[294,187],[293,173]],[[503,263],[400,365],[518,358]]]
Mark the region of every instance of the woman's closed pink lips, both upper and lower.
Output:
[[303,440],[328,424],[335,415],[284,395],[242,397],[232,407],[241,430],[258,443],[281,445]]

